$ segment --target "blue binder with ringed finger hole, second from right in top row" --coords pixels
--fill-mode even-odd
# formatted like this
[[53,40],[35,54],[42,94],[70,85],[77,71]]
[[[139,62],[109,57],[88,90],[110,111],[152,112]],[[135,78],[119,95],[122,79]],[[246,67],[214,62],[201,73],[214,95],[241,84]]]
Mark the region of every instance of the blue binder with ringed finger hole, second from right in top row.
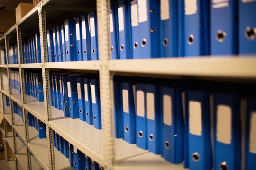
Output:
[[237,17],[237,0],[211,1],[211,55],[236,54],[238,52]]

